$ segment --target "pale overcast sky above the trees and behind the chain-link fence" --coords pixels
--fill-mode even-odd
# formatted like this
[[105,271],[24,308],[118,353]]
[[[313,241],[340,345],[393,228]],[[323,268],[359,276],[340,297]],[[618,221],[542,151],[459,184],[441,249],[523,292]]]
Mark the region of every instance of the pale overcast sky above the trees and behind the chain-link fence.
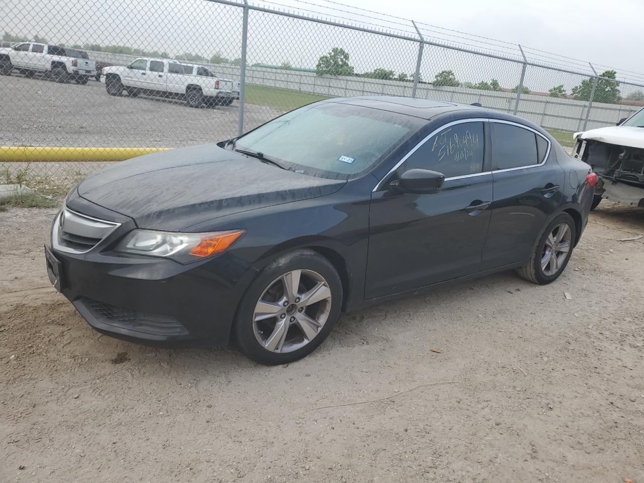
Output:
[[[262,0],[250,0],[261,5]],[[323,4],[328,0],[273,0],[263,4],[272,8],[281,5],[314,10],[340,22],[346,17],[359,22],[357,11],[342,5]],[[644,82],[644,56],[641,55],[641,21],[644,0],[340,0],[352,7],[361,7],[383,14],[413,18],[419,23],[442,29],[460,30],[491,37],[498,41],[521,43],[533,49],[571,57],[550,62],[568,62],[568,68],[588,71],[584,62],[641,72],[629,74],[631,81]],[[241,2],[240,2],[241,3]],[[347,12],[341,12],[346,10]],[[350,11],[352,11],[350,13]],[[379,17],[377,14],[364,15]],[[121,44],[144,50],[158,50],[176,55],[194,52],[209,58],[222,52],[231,59],[240,55],[240,8],[213,4],[204,0],[5,0],[0,2],[0,32],[22,35],[38,33],[53,42]],[[294,21],[276,15],[251,12],[249,22],[249,63],[279,64],[288,61],[294,66],[315,67],[320,55],[335,46],[346,48],[352,55],[351,64],[357,72],[384,67],[397,73],[413,73],[417,44],[388,37],[333,28],[321,24]],[[410,30],[408,22],[397,19],[363,17],[375,24],[389,23],[394,28]],[[421,26],[427,38],[453,43],[476,43],[476,39],[449,37],[448,30]],[[413,32],[413,30],[412,30]],[[481,44],[479,48],[503,50],[518,55],[515,46]],[[495,43],[495,42],[492,42]],[[529,57],[548,57],[534,50]],[[520,66],[512,62],[486,59],[441,48],[426,48],[422,77],[432,80],[440,70],[454,70],[460,81],[478,82],[498,79],[502,86],[518,83]],[[598,71],[605,68],[598,66]],[[580,76],[560,75],[553,71],[529,68],[526,84],[533,90],[550,86],[578,84]],[[621,76],[621,79],[624,79]]]

